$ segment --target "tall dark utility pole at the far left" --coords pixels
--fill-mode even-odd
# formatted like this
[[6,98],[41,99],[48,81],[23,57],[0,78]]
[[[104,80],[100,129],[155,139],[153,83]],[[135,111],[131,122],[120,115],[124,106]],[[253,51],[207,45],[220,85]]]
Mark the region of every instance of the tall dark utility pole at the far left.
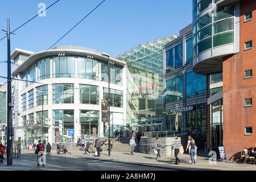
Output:
[[[2,30],[5,31],[5,30]],[[10,48],[10,22],[7,18],[7,166],[13,165],[13,121],[11,107],[11,48]],[[13,33],[11,33],[13,34]],[[14,34],[15,35],[15,34]]]

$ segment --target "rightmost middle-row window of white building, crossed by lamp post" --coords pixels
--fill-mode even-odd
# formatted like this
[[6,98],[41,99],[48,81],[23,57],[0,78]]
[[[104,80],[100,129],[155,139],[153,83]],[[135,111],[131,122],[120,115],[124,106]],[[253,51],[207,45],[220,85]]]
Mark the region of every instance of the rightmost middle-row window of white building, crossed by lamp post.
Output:
[[[108,100],[109,89],[104,88],[104,100]],[[110,89],[109,105],[113,107],[123,107],[123,92],[120,90]]]

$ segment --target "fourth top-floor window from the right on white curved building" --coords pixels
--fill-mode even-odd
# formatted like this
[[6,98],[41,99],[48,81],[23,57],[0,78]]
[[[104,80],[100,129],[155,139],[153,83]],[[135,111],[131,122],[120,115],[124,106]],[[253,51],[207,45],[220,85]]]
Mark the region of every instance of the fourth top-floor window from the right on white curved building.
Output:
[[42,59],[38,61],[37,65],[37,75],[38,75],[38,80],[44,80],[47,78],[50,78],[50,59]]

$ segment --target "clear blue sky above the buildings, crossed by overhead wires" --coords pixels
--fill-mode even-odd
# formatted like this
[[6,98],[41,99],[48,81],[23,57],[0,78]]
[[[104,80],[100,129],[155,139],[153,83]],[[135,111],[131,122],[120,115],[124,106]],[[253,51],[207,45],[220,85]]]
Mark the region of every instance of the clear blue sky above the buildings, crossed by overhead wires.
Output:
[[[0,1],[0,30],[14,30],[56,0]],[[102,0],[60,0],[11,35],[11,52],[48,49]],[[192,0],[106,0],[56,46],[82,46],[117,56],[140,43],[170,34],[192,23]],[[6,33],[0,32],[0,39]],[[0,42],[0,61],[7,60],[7,39]],[[7,64],[0,64],[0,76],[7,77]],[[6,79],[0,78],[0,82]]]

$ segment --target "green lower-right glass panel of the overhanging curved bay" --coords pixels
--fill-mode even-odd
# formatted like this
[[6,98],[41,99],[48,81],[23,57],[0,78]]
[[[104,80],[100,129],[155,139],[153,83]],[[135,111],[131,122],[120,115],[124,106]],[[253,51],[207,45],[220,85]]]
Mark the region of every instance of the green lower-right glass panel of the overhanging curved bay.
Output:
[[234,32],[226,32],[213,36],[213,47],[234,43]]

